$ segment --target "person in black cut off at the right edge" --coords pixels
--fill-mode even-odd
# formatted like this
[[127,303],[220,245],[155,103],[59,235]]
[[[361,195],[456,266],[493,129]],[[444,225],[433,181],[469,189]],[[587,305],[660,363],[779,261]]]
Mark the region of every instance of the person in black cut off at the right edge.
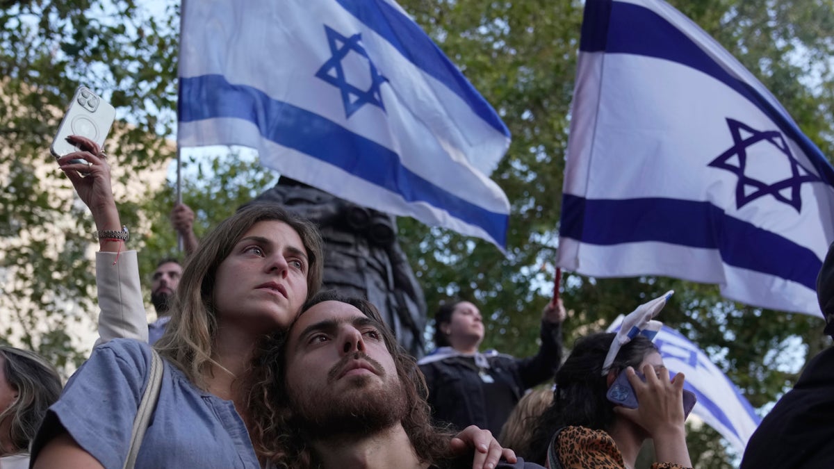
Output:
[[[816,298],[834,338],[834,244],[816,277]],[[817,354],[761,420],[741,459],[753,467],[834,467],[834,347]]]

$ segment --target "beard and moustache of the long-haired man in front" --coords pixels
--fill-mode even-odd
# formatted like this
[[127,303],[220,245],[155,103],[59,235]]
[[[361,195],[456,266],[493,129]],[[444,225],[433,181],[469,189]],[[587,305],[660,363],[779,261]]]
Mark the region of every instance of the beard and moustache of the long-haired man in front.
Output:
[[[382,371],[381,376],[357,376],[347,392],[331,395],[330,386],[317,386],[298,392],[289,390],[295,421],[302,431],[315,440],[332,437],[361,437],[373,435],[402,421],[408,413],[408,403],[403,384],[399,380],[386,379],[384,369],[362,352],[344,356],[329,372],[328,385],[347,361],[361,359]],[[369,381],[381,378],[383,386],[368,386]],[[296,388],[297,389],[297,388]]]

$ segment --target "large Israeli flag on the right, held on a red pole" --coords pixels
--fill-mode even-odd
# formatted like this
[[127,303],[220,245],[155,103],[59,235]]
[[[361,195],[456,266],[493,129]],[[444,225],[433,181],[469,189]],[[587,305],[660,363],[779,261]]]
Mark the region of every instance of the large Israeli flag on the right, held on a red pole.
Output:
[[771,93],[661,0],[588,0],[558,265],[666,275],[820,315],[834,169]]

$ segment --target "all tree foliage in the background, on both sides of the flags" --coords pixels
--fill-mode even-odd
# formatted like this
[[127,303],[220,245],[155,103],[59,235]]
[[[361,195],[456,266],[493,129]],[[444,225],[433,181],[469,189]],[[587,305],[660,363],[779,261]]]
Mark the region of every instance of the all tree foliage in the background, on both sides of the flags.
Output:
[[[540,310],[550,300],[558,245],[570,99],[574,87],[580,0],[402,0],[402,6],[498,109],[513,142],[493,179],[512,204],[506,255],[480,240],[399,219],[429,305],[448,296],[475,300],[485,313],[485,346],[516,356],[535,352]],[[826,155],[834,149],[832,0],[671,0],[771,90]],[[0,3],[0,309],[24,326],[0,325],[0,338],[60,363],[83,358],[67,332],[63,308],[93,309],[86,209],[45,184],[46,149],[66,97],[79,83],[98,89],[124,119],[111,153],[126,169],[118,184],[168,159],[173,130],[178,8],[156,16],[133,1],[6,1]],[[53,112],[55,110],[55,112]],[[114,148],[113,148],[114,147]],[[269,186],[273,176],[251,164],[209,159],[192,173],[184,198],[198,211],[198,234]],[[193,164],[192,164],[193,166]],[[63,179],[50,178],[68,187]],[[170,187],[122,207],[126,223],[143,224],[143,273],[173,250],[167,216]],[[55,219],[60,242],[41,233]],[[64,217],[64,218],[62,218]],[[593,279],[565,273],[561,295],[572,310],[565,344],[599,330],[637,304],[676,290],[663,320],[707,350],[753,406],[764,406],[796,381],[796,363],[828,341],[821,320],[760,310],[721,298],[714,285],[641,277]],[[431,314],[432,311],[430,311]],[[2,317],[2,316],[0,316]],[[23,330],[21,332],[21,330]],[[720,438],[693,429],[693,461],[732,465]]]

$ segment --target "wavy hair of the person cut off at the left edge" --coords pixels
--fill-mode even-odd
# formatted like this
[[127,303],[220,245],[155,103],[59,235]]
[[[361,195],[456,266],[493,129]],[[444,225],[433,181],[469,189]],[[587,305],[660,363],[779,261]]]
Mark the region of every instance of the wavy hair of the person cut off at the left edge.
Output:
[[3,375],[18,391],[18,398],[0,409],[0,422],[11,418],[8,439],[12,447],[0,446],[0,456],[28,451],[47,409],[61,396],[61,376],[43,356],[29,350],[0,345]]

